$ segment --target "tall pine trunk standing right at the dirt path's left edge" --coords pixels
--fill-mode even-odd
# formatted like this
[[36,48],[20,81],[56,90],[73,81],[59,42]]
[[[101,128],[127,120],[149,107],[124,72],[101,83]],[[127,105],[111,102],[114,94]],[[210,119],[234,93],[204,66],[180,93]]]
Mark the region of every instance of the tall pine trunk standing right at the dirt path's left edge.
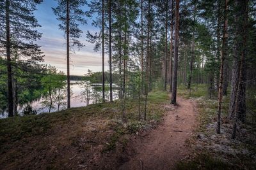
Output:
[[173,82],[171,104],[177,104],[177,71],[178,71],[178,50],[179,50],[179,0],[175,4],[175,45],[174,45],[174,65],[173,65]]

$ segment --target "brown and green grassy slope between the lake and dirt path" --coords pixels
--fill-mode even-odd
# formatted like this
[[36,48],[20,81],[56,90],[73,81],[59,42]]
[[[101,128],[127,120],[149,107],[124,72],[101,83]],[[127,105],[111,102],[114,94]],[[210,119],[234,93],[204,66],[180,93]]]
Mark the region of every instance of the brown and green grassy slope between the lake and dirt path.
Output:
[[125,125],[120,101],[0,120],[0,169],[115,169],[129,136],[154,127],[166,103],[166,92],[150,93],[148,120],[138,122],[138,101],[129,99]]

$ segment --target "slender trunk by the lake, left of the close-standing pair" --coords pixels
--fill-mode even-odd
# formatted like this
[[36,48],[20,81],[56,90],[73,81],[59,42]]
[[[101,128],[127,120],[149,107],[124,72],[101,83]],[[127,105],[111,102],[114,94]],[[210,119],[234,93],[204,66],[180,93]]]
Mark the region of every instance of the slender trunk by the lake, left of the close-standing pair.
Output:
[[104,43],[104,0],[102,0],[102,102],[105,102]]

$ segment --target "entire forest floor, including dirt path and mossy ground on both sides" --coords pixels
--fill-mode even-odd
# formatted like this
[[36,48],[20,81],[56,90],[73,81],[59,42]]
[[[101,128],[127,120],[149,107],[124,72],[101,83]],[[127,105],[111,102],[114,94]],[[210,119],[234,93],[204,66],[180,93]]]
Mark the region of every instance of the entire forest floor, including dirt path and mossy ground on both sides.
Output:
[[[122,101],[1,119],[0,169],[256,168],[255,115],[233,140],[227,97],[216,134],[216,96],[209,99],[203,85],[191,95],[179,89],[178,96],[172,106],[168,92],[151,92],[147,121],[138,121],[138,100],[127,99],[126,124]],[[250,113],[255,100],[248,100]]]

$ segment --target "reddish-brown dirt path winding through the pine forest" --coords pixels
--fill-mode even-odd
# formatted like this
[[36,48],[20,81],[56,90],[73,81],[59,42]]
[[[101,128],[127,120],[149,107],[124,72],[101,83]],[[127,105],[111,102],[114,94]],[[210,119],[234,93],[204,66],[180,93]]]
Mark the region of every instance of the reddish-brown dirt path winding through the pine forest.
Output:
[[177,99],[178,106],[170,108],[163,124],[152,130],[145,137],[133,141],[135,153],[129,162],[120,169],[172,169],[174,164],[186,158],[189,139],[195,126],[195,103],[186,99]]

